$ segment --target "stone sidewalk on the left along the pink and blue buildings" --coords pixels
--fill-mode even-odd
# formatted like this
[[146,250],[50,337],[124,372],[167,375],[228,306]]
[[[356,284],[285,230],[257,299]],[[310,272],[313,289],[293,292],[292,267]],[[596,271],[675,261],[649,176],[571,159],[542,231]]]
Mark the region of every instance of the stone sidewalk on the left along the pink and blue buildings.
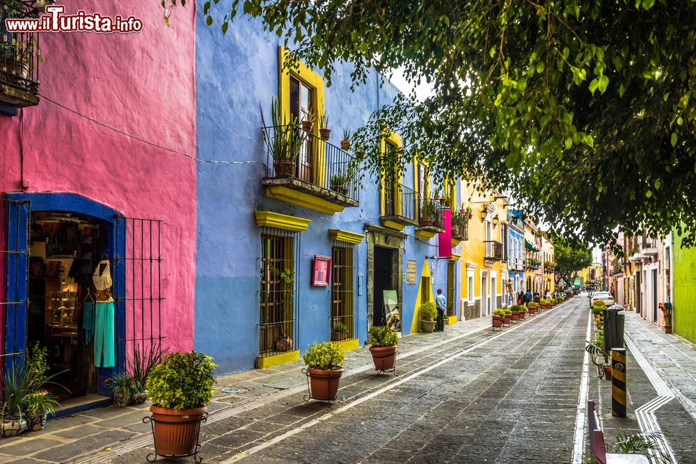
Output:
[[[489,317],[484,317],[446,326],[444,333],[406,335],[399,342],[400,359],[487,330],[490,325]],[[303,367],[300,360],[217,378],[216,391],[208,407],[210,417],[231,417],[306,391]],[[345,376],[374,369],[367,346],[348,351],[344,367]],[[240,392],[224,393],[225,387],[235,387]],[[150,425],[142,422],[143,417],[149,415],[149,406],[148,402],[127,408],[109,406],[90,410],[49,421],[43,431],[0,438],[0,463],[101,463],[113,457],[116,449],[151,445]]]

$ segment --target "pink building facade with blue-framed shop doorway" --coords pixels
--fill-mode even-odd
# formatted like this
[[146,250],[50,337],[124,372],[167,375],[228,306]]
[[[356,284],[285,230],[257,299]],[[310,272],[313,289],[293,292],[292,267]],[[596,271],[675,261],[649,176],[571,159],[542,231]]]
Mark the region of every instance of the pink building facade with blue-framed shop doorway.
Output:
[[[167,28],[157,2],[61,3],[143,22],[41,33],[38,104],[0,115],[3,359],[38,342],[79,396],[103,393],[136,349],[193,346],[195,9]],[[112,313],[95,271],[111,276]]]

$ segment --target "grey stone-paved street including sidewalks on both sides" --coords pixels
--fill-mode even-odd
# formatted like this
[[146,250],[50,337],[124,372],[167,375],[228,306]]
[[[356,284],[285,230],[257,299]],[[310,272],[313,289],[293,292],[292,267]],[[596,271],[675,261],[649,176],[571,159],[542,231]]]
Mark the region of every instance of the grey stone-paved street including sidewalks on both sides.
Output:
[[[694,347],[633,313],[626,319],[628,343],[638,350],[628,359],[628,417],[611,416],[610,383],[594,378],[591,365],[585,399],[597,402],[611,441],[619,433],[647,431],[638,416],[664,378],[674,394],[656,421],[674,460],[694,462]],[[585,401],[587,300],[574,298],[503,332],[491,331],[488,322],[404,337],[398,376],[375,374],[364,347],[350,352],[331,406],[304,401],[299,362],[219,378],[201,429],[201,454],[209,463],[581,462],[587,450],[585,412],[578,407]],[[657,377],[640,354],[653,344],[669,353],[658,362]],[[232,385],[242,392],[219,390]],[[109,407],[58,419],[45,431],[0,442],[1,462],[145,462],[153,451],[145,415],[144,406]]]

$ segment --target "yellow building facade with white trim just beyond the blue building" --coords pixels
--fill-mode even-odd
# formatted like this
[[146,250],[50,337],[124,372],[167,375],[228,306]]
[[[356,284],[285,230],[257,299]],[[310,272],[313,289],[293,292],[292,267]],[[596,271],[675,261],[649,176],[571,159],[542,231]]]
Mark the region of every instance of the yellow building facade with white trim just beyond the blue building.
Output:
[[470,211],[468,240],[461,242],[461,314],[464,319],[488,316],[507,304],[507,198],[498,191],[480,192],[464,185],[461,207]]

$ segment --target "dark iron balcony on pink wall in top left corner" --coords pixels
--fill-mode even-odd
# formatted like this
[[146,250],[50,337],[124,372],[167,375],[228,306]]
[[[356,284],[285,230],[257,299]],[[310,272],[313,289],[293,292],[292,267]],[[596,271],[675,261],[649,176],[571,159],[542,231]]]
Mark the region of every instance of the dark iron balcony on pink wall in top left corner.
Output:
[[33,2],[0,0],[0,111],[10,115],[39,103],[39,38],[8,32],[5,19],[32,18],[38,18]]

